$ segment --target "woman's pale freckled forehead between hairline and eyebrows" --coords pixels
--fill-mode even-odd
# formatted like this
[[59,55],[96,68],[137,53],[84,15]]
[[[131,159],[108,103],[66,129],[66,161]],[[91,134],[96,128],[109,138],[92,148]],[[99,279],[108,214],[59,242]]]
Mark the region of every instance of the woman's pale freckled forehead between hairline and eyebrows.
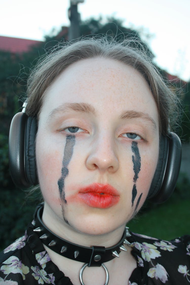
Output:
[[46,90],[42,112],[73,102],[90,103],[99,111],[122,112],[127,108],[152,114],[158,120],[146,80],[116,60],[91,58],[70,65]]

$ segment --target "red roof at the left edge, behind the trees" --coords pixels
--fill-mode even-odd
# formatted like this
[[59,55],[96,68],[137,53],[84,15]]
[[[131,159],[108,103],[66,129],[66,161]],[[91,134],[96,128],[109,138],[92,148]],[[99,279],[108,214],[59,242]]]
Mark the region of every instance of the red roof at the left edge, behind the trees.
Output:
[[27,52],[32,46],[37,46],[39,43],[40,41],[38,40],[0,36],[0,50],[9,51],[14,54]]

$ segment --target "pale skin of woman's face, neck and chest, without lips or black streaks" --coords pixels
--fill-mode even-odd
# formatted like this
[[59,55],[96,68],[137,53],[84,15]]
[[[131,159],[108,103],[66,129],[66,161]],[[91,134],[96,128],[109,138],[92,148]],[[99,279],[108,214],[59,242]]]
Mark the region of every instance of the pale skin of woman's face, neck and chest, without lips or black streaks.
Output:
[[[150,88],[132,67],[92,58],[69,66],[46,90],[44,98],[36,137],[38,177],[45,201],[42,219],[68,241],[87,247],[110,247],[120,240],[126,223],[144,203],[156,169],[159,123]],[[65,203],[58,180],[70,127],[79,129],[72,133],[75,143],[64,180]],[[141,166],[132,206],[133,141],[137,142]],[[73,199],[79,187],[95,182],[117,189],[119,202],[100,209]],[[120,258],[105,264],[109,285],[127,284],[136,267],[130,247],[126,248],[128,251],[121,252]],[[46,250],[71,282],[79,285],[83,264]],[[105,273],[102,268],[86,268],[83,280],[85,285],[101,285]]]

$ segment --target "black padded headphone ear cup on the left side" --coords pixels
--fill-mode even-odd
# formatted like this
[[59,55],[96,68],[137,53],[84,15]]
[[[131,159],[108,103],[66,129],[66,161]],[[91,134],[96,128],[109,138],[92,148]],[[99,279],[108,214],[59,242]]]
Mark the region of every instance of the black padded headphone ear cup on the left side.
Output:
[[13,117],[9,132],[9,168],[13,182],[20,188],[38,184],[36,133],[36,117],[28,117],[23,112]]

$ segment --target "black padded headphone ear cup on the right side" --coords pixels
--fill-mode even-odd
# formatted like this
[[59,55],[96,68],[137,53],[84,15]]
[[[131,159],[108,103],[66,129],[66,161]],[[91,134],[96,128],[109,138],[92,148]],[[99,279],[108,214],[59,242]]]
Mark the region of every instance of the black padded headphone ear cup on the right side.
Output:
[[175,133],[161,136],[159,158],[147,199],[165,202],[173,193],[181,165],[181,141]]

